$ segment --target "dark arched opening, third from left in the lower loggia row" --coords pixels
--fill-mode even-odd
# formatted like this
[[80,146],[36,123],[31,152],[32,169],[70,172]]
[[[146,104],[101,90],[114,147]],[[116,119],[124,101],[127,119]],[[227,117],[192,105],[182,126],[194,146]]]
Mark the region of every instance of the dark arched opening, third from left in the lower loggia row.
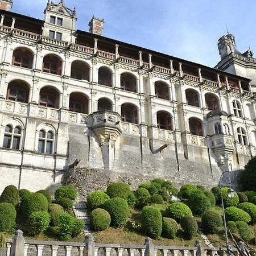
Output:
[[88,114],[88,98],[82,93],[71,93],[69,96],[69,110]]

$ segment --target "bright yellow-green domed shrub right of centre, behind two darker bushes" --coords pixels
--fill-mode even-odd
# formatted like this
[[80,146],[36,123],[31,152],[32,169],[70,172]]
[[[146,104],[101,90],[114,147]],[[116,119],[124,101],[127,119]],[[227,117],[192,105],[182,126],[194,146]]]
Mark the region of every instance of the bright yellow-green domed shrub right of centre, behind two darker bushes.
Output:
[[166,208],[166,214],[170,218],[174,218],[177,222],[180,222],[181,218],[186,215],[191,215],[191,209],[183,203],[173,203]]

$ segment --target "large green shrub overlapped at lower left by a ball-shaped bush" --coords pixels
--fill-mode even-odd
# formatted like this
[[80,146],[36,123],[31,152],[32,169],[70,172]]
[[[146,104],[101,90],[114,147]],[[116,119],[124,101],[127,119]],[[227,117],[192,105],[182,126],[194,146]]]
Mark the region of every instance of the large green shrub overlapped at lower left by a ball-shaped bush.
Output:
[[129,216],[130,209],[125,199],[114,197],[106,201],[103,208],[110,214],[111,226],[119,228],[126,224]]

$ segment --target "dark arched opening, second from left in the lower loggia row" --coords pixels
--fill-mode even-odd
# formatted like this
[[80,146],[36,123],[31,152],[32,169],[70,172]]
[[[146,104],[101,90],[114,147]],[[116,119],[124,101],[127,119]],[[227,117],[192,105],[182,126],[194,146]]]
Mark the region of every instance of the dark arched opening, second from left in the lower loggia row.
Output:
[[39,105],[49,108],[59,108],[59,93],[51,86],[43,87],[40,90]]

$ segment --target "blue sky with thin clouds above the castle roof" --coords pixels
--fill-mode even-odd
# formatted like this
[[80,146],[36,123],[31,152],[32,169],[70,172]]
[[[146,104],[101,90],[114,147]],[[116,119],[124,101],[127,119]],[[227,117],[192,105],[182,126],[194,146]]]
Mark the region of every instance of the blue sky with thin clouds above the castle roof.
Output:
[[[13,11],[43,19],[47,0],[13,0]],[[59,0],[55,0],[59,2]],[[65,0],[77,9],[77,28],[92,15],[105,20],[104,36],[214,67],[217,40],[229,32],[241,52],[256,54],[255,0]],[[256,56],[256,55],[255,55]]]

